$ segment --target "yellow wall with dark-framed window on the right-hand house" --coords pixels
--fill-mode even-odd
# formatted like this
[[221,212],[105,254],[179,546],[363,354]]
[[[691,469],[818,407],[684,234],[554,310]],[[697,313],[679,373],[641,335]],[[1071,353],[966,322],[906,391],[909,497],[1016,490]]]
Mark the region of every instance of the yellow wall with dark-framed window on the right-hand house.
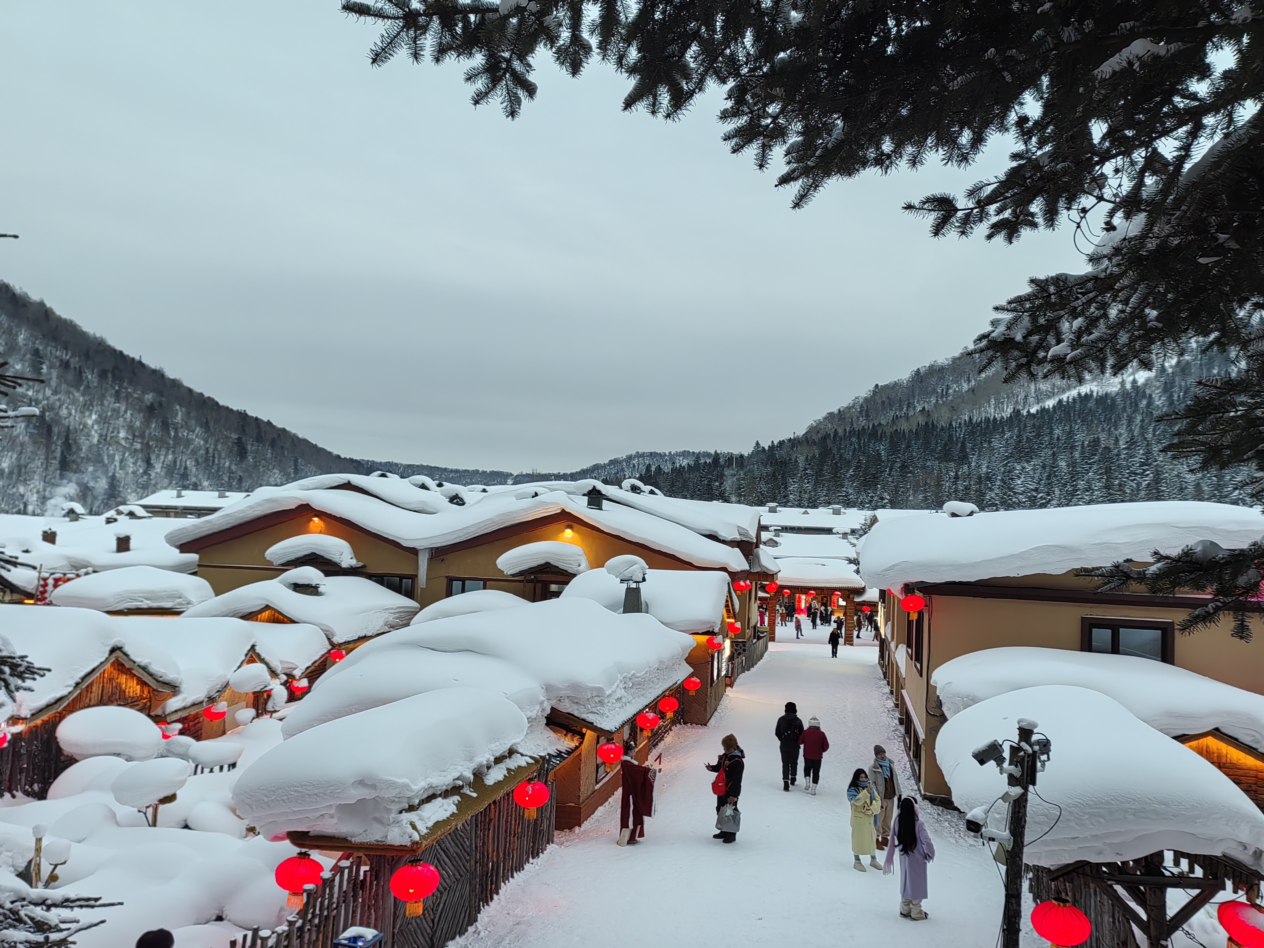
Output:
[[[940,665],[961,655],[1004,646],[1079,651],[1081,619],[1086,616],[1179,622],[1187,614],[1187,609],[1105,605],[1092,602],[1047,603],[1025,599],[930,597],[925,661],[919,672],[913,657],[908,657],[904,685],[910,699],[910,710],[916,714],[927,736],[921,744],[923,793],[945,796],[949,794],[948,784],[934,756],[935,734],[943,719],[927,710],[928,700],[932,708],[938,707],[938,696],[935,689],[929,685],[929,679]],[[905,624],[902,613],[896,622],[902,632]],[[1255,642],[1231,638],[1229,622],[1221,622],[1215,628],[1192,636],[1182,636],[1178,631],[1174,655],[1177,667],[1264,694],[1264,623],[1253,619],[1251,626],[1255,631]]]

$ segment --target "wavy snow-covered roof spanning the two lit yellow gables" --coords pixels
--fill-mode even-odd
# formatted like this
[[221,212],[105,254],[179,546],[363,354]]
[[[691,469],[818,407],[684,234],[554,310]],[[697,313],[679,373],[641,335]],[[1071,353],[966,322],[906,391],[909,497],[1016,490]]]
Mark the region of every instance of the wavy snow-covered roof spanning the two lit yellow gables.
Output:
[[[751,533],[750,525],[737,522],[738,518],[731,509],[736,508],[736,513],[741,513],[751,508],[635,494],[600,485],[603,495],[611,499],[603,504],[603,509],[595,509],[588,506],[588,498],[580,490],[592,489],[589,485],[595,483],[578,482],[564,484],[559,489],[551,489],[554,485],[497,488],[488,493],[469,493],[463,506],[455,506],[442,499],[437,492],[413,487],[402,479],[369,477],[356,480],[356,475],[327,474],[281,488],[259,488],[238,504],[210,517],[182,523],[167,533],[167,540],[179,546],[269,513],[306,504],[403,546],[422,550],[464,542],[494,530],[562,513],[576,522],[589,523],[613,536],[671,554],[695,566],[731,571],[747,569],[738,550],[712,536],[732,535],[736,541],[744,537],[743,531]],[[340,485],[356,489],[343,489]],[[672,503],[662,503],[666,501]],[[710,509],[713,507],[715,509]],[[705,530],[707,535],[681,526],[683,522]]]

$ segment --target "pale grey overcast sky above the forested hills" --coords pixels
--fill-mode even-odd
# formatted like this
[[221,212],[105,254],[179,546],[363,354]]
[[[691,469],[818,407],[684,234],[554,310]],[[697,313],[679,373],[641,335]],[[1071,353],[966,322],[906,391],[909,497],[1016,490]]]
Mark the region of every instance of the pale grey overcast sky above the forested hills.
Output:
[[986,167],[791,211],[715,96],[664,123],[545,59],[511,123],[374,37],[336,0],[5,3],[0,277],[331,450],[556,470],[803,431],[1079,268],[900,212]]

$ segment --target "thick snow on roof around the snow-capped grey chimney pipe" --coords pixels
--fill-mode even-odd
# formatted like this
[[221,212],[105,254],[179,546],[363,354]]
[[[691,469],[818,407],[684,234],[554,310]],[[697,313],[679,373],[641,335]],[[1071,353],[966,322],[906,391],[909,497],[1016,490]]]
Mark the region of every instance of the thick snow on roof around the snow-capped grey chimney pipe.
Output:
[[[728,575],[707,570],[647,570],[641,586],[645,611],[667,628],[690,635],[714,632],[724,621]],[[592,599],[611,612],[623,612],[623,584],[605,570],[575,576],[565,599]]]

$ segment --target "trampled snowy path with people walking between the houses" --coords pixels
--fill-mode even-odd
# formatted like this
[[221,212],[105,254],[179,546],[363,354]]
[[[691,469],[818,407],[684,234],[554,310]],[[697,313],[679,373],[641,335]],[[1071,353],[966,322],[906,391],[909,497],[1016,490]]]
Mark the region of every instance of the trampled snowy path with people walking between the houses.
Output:
[[[823,635],[823,633],[822,633]],[[1001,884],[987,851],[959,814],[924,805],[939,856],[930,867],[927,921],[899,918],[892,876],[852,868],[847,781],[884,744],[911,786],[872,643],[839,648],[776,642],[738,680],[709,727],[680,727],[662,750],[659,815],[638,846],[619,848],[618,799],[512,880],[478,925],[454,945],[556,948],[642,947],[696,935],[724,948],[787,944],[899,944],[902,948],[986,948],[996,939]],[[820,718],[830,741],[820,790],[781,790],[772,728],[794,700],[806,722]],[[733,732],[746,751],[742,832],[712,839],[712,775],[719,738]],[[694,940],[694,938],[690,938]]]

